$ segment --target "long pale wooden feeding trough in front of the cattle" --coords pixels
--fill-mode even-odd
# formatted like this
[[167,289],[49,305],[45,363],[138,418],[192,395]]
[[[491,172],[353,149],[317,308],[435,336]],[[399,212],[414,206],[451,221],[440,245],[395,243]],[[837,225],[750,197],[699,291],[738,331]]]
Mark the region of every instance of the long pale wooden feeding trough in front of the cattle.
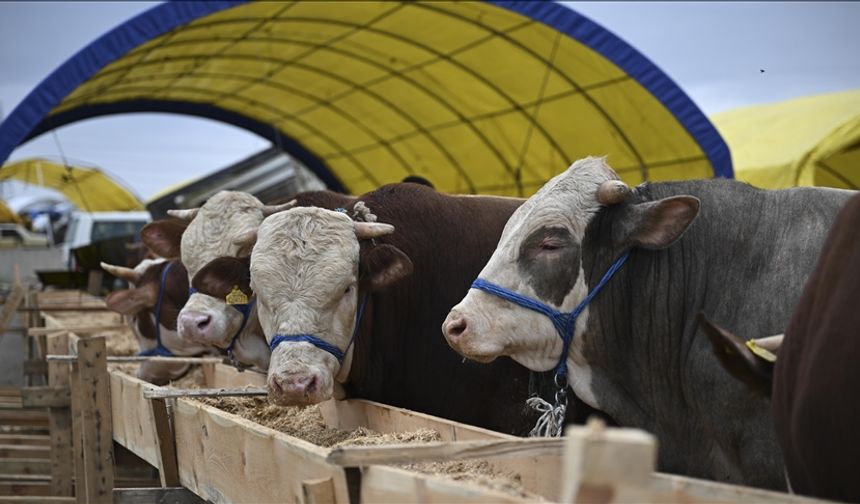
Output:
[[[655,440],[631,429],[573,427],[563,439],[523,439],[370,401],[329,401],[321,405],[329,427],[426,428],[441,440],[324,448],[192,398],[165,398],[167,387],[108,370],[103,337],[65,331],[59,323],[46,317],[58,331],[41,333],[48,353],[76,356],[49,363],[49,387],[69,380],[75,450],[73,464],[52,464],[51,474],[53,484],[77,483],[78,502],[131,502],[113,492],[111,441],[157,468],[161,485],[178,489],[175,502],[812,502],[656,473]],[[207,387],[264,386],[261,374],[201,365]],[[466,459],[518,475],[525,496],[397,467]]]

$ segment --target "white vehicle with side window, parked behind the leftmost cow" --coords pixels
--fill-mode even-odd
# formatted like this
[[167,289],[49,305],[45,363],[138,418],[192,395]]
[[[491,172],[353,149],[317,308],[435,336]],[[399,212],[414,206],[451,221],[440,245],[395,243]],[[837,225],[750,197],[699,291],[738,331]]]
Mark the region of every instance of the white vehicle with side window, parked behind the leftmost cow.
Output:
[[108,238],[138,236],[150,221],[149,212],[74,212],[66,230],[63,262],[74,269],[72,250]]

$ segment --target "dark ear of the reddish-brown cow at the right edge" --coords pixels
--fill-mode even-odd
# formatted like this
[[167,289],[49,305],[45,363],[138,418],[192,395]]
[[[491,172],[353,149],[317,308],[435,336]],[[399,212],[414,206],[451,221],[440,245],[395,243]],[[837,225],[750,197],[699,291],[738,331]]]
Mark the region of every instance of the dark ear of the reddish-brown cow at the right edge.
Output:
[[753,390],[770,395],[774,363],[757,356],[743,338],[712,323],[704,314],[699,313],[696,320],[723,369]]

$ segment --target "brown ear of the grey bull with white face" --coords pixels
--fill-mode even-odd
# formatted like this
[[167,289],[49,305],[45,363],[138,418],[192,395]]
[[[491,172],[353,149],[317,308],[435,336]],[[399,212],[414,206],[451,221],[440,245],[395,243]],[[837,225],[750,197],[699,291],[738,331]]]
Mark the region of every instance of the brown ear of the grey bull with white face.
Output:
[[672,196],[627,207],[622,236],[616,242],[646,249],[666,248],[677,241],[699,215],[699,198]]

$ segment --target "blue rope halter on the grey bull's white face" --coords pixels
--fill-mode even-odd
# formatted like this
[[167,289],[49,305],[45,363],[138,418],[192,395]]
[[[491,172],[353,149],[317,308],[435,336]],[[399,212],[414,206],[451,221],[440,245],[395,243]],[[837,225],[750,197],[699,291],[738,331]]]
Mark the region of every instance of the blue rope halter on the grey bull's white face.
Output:
[[579,305],[570,313],[560,312],[536,299],[518,294],[510,289],[487,282],[481,278],[472,282],[472,288],[498,296],[516,305],[522,306],[523,308],[528,308],[529,310],[542,313],[552,320],[552,324],[555,326],[555,330],[558,331],[558,335],[561,337],[561,341],[564,344],[561,351],[561,357],[558,360],[558,364],[555,366],[556,381],[558,382],[559,378],[567,377],[567,353],[570,350],[570,344],[573,341],[573,332],[576,329],[576,319],[579,318],[580,313],[585,310],[588,303],[597,296],[612,276],[621,269],[621,266],[623,266],[624,262],[627,261],[627,257],[629,255],[630,251],[628,250],[616,259],[615,262],[612,263],[612,266],[606,270],[606,273],[603,275],[603,278],[600,279],[600,282],[591,289],[588,295],[585,296],[585,299],[583,299],[582,302],[580,302]]

